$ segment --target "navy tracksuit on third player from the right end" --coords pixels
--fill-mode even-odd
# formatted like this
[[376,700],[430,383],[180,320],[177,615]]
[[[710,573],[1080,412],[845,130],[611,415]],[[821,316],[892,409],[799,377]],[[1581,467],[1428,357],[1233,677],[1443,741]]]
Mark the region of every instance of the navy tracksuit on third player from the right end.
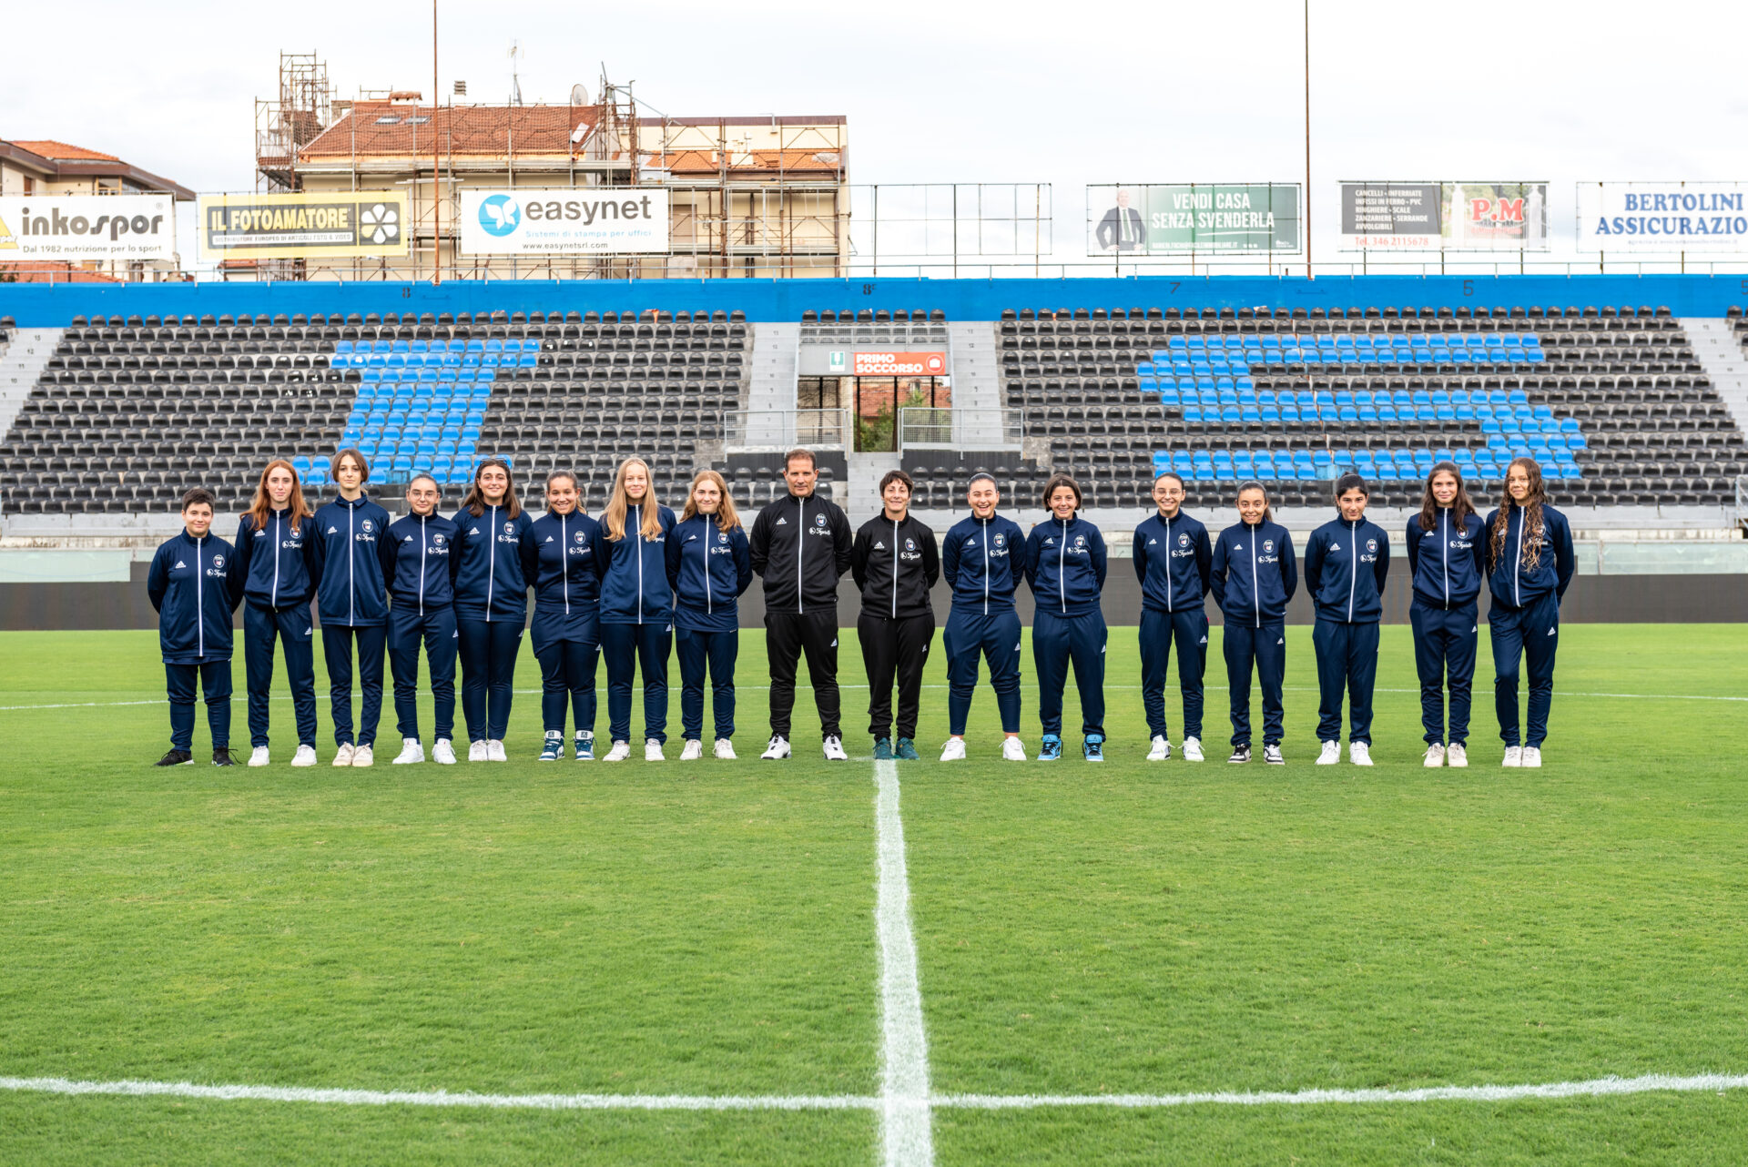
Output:
[[1318,741],[1341,741],[1348,695],[1348,741],[1372,742],[1377,685],[1377,622],[1390,578],[1390,535],[1367,519],[1335,517],[1306,540],[1306,590],[1316,608]]

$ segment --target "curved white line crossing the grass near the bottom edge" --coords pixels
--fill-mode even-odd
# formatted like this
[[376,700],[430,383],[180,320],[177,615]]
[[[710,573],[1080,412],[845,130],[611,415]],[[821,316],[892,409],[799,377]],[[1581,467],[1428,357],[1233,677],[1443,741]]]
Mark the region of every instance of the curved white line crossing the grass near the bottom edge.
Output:
[[[939,1109],[1044,1109],[1108,1106],[1358,1106],[1370,1102],[1523,1102],[1536,1099],[1617,1097],[1624,1094],[1724,1094],[1748,1088],[1748,1074],[1641,1074],[1516,1087],[1423,1087],[1416,1090],[1259,1090],[1210,1094],[937,1094]],[[626,1109],[626,1111],[879,1111],[884,1097],[855,1094],[451,1094],[447,1090],[332,1090],[308,1087],[198,1085],[192,1081],[79,1081],[73,1078],[0,1078],[0,1090],[61,1095],[206,1099],[213,1102],[309,1102],[325,1106],[453,1106],[481,1109]]]

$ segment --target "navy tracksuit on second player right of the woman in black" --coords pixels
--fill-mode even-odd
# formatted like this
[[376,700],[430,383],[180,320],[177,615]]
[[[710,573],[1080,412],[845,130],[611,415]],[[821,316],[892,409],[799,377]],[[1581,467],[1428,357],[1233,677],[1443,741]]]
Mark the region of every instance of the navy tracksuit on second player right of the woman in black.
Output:
[[1051,517],[1026,536],[1026,584],[1035,601],[1031,660],[1038,669],[1038,718],[1061,737],[1063,688],[1073,662],[1080,732],[1105,737],[1105,536],[1079,514]]

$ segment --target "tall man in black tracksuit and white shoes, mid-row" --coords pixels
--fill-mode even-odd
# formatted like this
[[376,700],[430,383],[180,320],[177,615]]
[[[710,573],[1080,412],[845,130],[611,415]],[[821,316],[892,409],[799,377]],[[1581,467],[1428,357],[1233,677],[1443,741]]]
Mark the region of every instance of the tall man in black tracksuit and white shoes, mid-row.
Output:
[[813,701],[820,708],[825,756],[843,762],[837,723],[837,580],[850,570],[850,517],[813,493],[813,451],[783,459],[788,496],[753,521],[753,575],[764,580],[766,655],[771,667],[771,744],[766,758],[787,758],[788,715],[795,708],[795,662],[808,653]]

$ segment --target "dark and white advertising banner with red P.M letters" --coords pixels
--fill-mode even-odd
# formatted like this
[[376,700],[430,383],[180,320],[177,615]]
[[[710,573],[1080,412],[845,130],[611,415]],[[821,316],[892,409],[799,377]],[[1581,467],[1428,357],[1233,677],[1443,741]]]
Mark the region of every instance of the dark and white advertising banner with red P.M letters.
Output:
[[1355,252],[1545,252],[1545,182],[1344,182]]

